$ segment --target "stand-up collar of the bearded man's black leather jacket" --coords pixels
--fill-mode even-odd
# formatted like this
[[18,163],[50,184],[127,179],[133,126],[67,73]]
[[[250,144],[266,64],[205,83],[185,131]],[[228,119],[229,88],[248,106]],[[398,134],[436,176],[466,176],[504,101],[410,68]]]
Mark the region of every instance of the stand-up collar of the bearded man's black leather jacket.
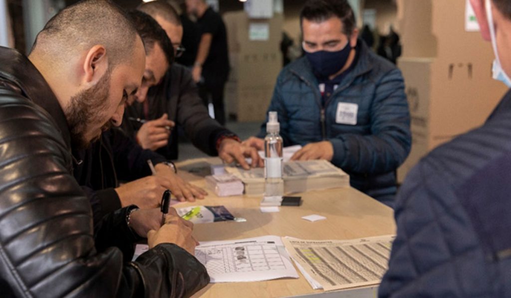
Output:
[[71,134],[62,107],[34,64],[18,51],[0,47],[0,77],[12,82],[24,96],[50,114],[67,148],[71,149]]

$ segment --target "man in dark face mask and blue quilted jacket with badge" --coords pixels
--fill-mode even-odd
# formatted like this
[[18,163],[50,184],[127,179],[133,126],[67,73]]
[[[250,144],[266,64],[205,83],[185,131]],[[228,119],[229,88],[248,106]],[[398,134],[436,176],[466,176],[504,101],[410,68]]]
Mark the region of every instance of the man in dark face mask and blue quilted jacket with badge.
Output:
[[[401,72],[358,39],[346,0],[309,0],[300,15],[306,57],[278,76],[268,111],[278,112],[292,159],[327,159],[351,185],[392,207],[396,169],[411,146]],[[265,124],[245,144],[263,148]]]

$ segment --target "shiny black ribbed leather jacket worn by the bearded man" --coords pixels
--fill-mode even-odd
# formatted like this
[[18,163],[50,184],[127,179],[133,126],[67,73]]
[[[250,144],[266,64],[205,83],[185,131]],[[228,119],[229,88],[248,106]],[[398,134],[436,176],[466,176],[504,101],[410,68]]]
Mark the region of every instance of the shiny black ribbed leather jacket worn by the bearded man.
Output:
[[0,47],[0,295],[178,297],[205,286],[204,266],[176,245],[129,263],[118,248],[102,248],[109,243],[95,245],[98,235],[113,245],[133,236],[122,210],[93,235],[69,144],[44,78],[25,56]]

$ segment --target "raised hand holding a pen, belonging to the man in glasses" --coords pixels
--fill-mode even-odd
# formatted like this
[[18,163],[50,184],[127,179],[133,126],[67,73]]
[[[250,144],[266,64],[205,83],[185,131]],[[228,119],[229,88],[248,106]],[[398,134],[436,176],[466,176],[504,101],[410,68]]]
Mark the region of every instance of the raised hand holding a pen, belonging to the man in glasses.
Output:
[[152,151],[167,146],[169,136],[175,123],[170,121],[167,113],[156,120],[144,123],[136,133],[137,142],[144,149]]

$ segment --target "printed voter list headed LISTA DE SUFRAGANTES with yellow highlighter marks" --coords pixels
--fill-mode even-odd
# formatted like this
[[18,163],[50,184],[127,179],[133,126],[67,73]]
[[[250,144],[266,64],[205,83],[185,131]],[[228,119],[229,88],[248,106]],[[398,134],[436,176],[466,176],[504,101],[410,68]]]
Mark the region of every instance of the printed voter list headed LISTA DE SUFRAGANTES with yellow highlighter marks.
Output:
[[387,271],[396,236],[355,240],[284,237],[291,258],[313,289],[326,291],[377,285]]

